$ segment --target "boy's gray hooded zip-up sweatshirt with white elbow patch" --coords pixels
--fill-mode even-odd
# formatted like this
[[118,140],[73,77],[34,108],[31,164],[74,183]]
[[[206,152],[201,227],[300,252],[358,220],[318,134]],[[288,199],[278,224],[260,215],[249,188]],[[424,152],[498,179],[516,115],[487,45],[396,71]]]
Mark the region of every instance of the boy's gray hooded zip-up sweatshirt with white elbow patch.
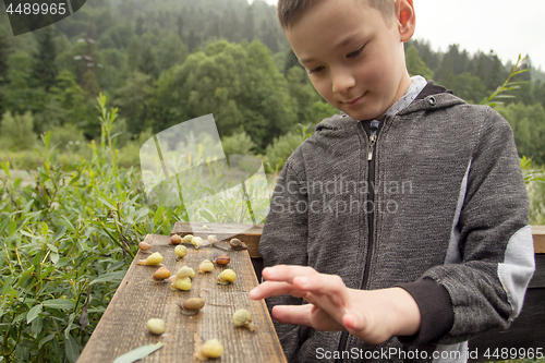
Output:
[[275,322],[289,362],[463,362],[469,339],[507,328],[522,308],[535,264],[507,121],[433,84],[379,121],[342,114],[316,126],[278,178],[259,254],[352,289],[401,287],[421,329],[373,346]]

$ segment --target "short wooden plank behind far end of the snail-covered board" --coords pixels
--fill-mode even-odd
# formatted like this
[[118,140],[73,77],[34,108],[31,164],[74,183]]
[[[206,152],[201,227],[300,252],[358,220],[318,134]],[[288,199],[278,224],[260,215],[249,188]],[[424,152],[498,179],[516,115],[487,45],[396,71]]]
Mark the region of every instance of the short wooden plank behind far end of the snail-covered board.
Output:
[[[203,229],[206,226],[206,229]],[[262,238],[263,225],[239,225],[239,223],[204,223],[204,222],[175,222],[170,235],[185,234],[198,235],[203,240],[215,234],[218,241],[229,242],[238,238],[247,245],[250,257],[259,257],[259,239]]]

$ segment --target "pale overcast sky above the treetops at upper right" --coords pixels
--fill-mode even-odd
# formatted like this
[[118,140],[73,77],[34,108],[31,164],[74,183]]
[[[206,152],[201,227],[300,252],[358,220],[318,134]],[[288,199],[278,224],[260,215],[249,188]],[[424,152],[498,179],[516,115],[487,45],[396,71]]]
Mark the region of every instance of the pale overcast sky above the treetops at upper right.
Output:
[[[265,0],[276,4],[277,0]],[[470,55],[493,49],[504,63],[530,55],[545,71],[545,1],[543,0],[414,0],[415,39],[434,50],[458,44]]]

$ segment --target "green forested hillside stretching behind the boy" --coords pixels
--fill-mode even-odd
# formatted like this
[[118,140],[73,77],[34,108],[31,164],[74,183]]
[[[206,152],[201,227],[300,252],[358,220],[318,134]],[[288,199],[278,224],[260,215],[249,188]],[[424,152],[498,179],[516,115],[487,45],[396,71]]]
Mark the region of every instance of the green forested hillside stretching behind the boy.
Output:
[[[46,131],[66,153],[85,156],[85,143],[100,133],[99,93],[119,108],[117,145],[126,166],[138,164],[137,149],[153,133],[214,113],[228,154],[264,156],[274,169],[298,145],[302,126],[313,130],[336,112],[307,81],[274,7],[259,0],[99,0],[17,37],[1,16],[0,141],[3,158],[22,168],[33,166],[25,150]],[[412,40],[408,68],[480,102],[512,64],[462,46],[439,52]],[[545,73],[529,58],[524,66],[529,72],[516,81],[526,83],[496,109],[513,128],[520,155],[542,165]]]

